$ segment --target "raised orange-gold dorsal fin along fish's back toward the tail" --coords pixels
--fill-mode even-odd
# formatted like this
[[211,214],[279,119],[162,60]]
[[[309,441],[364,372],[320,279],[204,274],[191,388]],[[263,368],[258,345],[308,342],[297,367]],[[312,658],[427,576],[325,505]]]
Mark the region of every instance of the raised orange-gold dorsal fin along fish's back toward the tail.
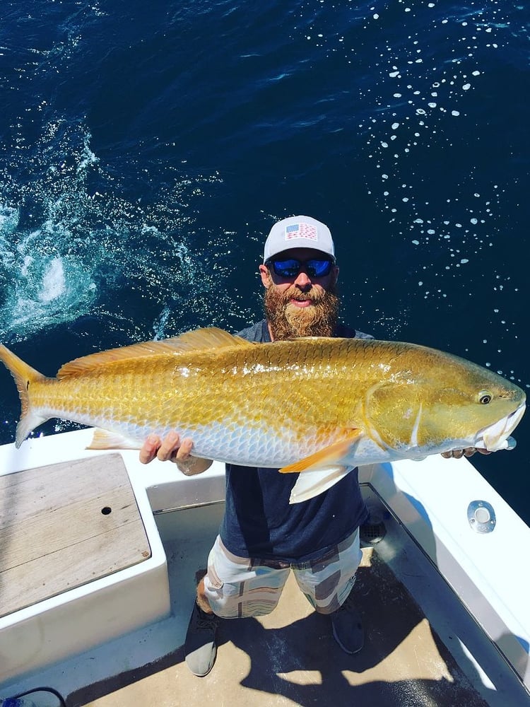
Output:
[[122,346],[119,349],[98,351],[82,358],[74,358],[59,368],[57,378],[67,378],[70,375],[81,375],[89,370],[98,368],[104,363],[126,361],[131,358],[145,358],[160,354],[183,354],[186,351],[205,351],[221,349],[228,346],[254,346],[251,341],[235,337],[223,329],[211,327],[196,329],[194,332],[185,332],[178,337],[162,339],[160,341],[143,341],[141,344]]

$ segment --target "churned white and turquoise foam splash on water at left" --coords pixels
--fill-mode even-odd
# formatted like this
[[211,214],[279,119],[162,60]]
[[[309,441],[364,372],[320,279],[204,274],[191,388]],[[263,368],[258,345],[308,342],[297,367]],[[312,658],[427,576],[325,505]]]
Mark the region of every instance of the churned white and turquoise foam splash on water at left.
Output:
[[[122,196],[90,141],[83,124],[55,117],[32,155],[21,154],[0,179],[2,194],[33,204],[30,214],[0,205],[0,339],[27,339],[86,315],[129,339],[192,328],[197,317],[225,327],[227,318],[252,317],[237,293],[220,287],[230,277],[220,264],[233,235],[199,234],[189,216],[218,175],[168,173],[155,198],[140,203]],[[17,173],[27,181],[14,182]],[[162,314],[142,320],[146,305]]]

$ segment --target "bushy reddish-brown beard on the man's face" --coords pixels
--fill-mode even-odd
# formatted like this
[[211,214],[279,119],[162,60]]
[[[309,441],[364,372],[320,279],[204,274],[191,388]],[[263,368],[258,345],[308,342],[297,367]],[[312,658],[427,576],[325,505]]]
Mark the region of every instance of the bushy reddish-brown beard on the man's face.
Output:
[[[290,300],[312,300],[307,307],[297,307]],[[336,287],[329,290],[310,290],[301,293],[296,287],[278,292],[274,286],[266,288],[264,308],[273,339],[295,339],[297,337],[331,337],[338,317]]]

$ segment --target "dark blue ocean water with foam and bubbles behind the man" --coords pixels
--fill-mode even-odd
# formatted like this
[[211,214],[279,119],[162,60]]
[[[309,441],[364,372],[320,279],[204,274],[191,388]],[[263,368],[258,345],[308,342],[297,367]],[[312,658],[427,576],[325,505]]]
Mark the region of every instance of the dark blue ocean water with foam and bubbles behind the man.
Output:
[[[0,340],[54,375],[241,328],[271,223],[305,213],[344,320],[528,389],[529,24],[504,0],[3,0]],[[473,457],[526,522],[529,431]]]

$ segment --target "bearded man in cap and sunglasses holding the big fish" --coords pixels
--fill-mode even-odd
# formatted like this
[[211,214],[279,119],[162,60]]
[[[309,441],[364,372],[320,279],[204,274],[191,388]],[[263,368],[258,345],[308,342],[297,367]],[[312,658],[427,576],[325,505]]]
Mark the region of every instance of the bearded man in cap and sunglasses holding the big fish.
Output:
[[[309,216],[275,223],[259,266],[265,319],[239,332],[265,343],[294,337],[372,338],[338,324],[338,267],[329,228]],[[282,391],[271,390],[278,406]],[[295,414],[305,415],[305,410]],[[140,460],[173,460],[184,474],[211,462],[190,456],[193,440],[172,433],[150,436]],[[218,617],[237,619],[271,612],[288,574],[314,609],[331,617],[336,642],[346,653],[363,647],[364,633],[351,590],[360,562],[359,527],[367,518],[357,469],[316,498],[290,505],[298,474],[226,465],[225,514],[197,588],[184,645],[198,677],[216,658]]]

